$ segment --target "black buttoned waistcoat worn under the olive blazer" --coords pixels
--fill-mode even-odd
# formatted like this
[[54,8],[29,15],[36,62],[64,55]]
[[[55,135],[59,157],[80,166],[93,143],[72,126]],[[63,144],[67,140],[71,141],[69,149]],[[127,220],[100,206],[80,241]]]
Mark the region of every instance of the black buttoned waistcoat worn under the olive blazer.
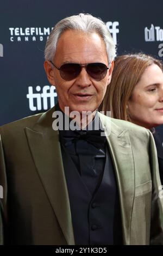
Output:
[[76,245],[122,244],[120,203],[109,150],[101,184],[92,196],[67,150],[61,149]]

